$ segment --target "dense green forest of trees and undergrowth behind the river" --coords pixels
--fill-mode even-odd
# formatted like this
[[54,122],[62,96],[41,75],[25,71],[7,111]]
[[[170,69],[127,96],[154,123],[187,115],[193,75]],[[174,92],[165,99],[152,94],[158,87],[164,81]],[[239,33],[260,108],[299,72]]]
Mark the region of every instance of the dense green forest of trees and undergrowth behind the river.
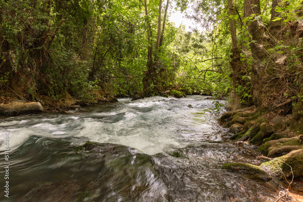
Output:
[[[85,101],[97,87],[145,97],[231,88],[248,106],[301,100],[300,0],[171,3],[0,0],[1,94]],[[202,31],[176,27],[175,9]]]

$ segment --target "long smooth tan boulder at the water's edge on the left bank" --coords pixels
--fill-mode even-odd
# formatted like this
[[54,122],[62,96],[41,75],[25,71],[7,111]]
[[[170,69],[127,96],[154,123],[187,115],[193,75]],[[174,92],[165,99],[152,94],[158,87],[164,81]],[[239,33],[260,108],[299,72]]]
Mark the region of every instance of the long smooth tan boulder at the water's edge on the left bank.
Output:
[[39,102],[26,103],[25,101],[15,100],[8,104],[0,104],[0,114],[6,116],[16,116],[42,111],[43,107]]

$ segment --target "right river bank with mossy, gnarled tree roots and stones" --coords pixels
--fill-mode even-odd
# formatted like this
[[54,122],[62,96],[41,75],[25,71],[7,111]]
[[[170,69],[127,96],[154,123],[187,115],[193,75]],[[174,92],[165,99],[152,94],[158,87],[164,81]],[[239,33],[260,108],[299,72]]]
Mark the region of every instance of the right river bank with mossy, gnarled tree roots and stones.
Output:
[[219,121],[233,134],[229,139],[238,147],[261,152],[258,158],[267,162],[257,166],[231,162],[223,164],[222,169],[247,171],[265,180],[285,180],[288,186],[281,191],[281,198],[292,201],[291,184],[303,176],[301,111],[301,103],[297,102],[287,113],[284,110],[262,113],[255,106],[224,113]]

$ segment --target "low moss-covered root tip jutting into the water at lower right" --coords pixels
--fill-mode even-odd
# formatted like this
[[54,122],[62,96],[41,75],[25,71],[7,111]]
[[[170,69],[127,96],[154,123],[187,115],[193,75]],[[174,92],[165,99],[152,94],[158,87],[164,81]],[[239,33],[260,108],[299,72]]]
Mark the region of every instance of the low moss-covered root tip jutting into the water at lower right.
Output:
[[267,175],[262,168],[247,163],[226,163],[222,165],[221,169],[229,171],[248,171],[250,174]]

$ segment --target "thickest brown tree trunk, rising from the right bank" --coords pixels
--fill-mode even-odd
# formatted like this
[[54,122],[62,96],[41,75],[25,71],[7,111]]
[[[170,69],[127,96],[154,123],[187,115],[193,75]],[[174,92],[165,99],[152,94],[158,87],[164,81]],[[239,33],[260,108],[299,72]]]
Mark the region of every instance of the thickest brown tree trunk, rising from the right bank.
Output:
[[[272,63],[266,50],[269,48],[268,38],[264,35],[265,27],[259,17],[261,15],[260,1],[246,0],[245,11],[246,16],[253,16],[252,22],[248,23],[248,32],[251,35],[251,40],[253,40],[250,43],[251,53],[255,61],[251,66],[250,92],[256,106],[267,108],[268,106],[265,106],[265,103],[268,102],[267,99],[271,98],[273,93],[279,93],[281,83],[272,79],[271,76]],[[263,61],[266,61],[266,63],[262,63]]]

